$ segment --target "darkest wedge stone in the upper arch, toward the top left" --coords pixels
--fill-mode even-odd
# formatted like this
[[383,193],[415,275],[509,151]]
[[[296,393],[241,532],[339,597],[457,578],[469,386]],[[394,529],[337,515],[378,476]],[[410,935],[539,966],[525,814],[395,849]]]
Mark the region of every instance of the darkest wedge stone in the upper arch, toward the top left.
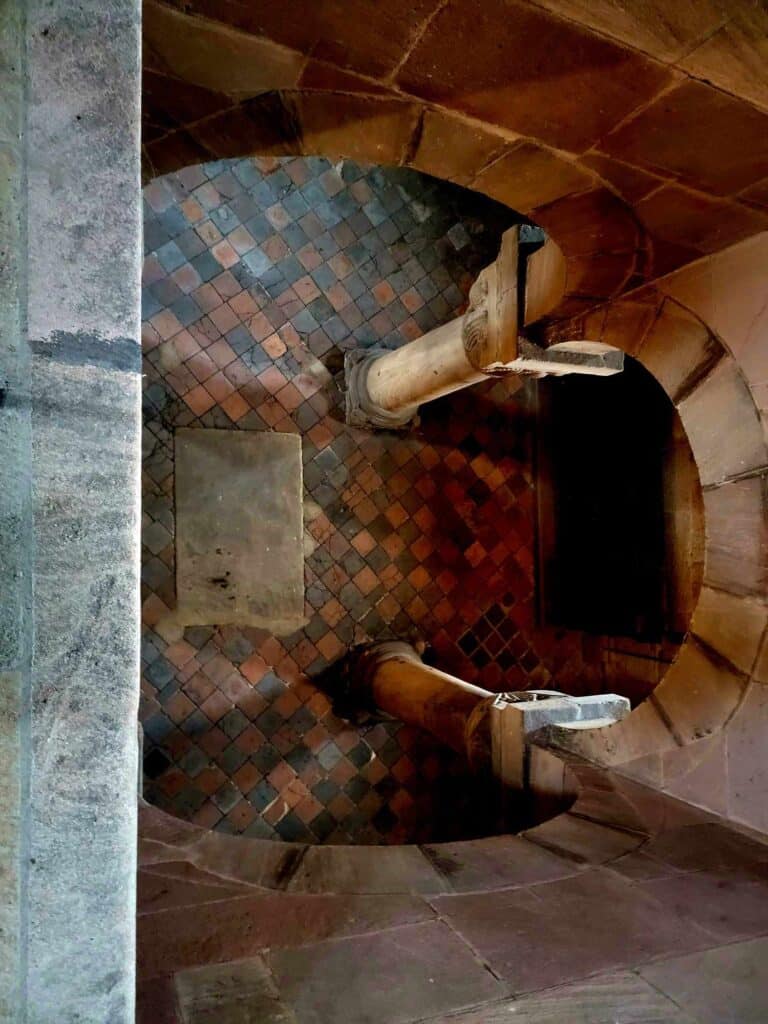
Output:
[[189,128],[196,141],[217,159],[287,157],[301,153],[301,126],[291,99],[267,92]]

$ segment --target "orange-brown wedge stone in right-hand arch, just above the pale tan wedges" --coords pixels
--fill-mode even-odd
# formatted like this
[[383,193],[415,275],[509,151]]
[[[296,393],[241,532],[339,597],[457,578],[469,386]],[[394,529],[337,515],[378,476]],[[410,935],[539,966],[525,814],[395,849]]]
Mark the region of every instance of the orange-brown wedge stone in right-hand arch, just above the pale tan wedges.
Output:
[[638,358],[677,402],[716,366],[725,350],[697,317],[667,299]]

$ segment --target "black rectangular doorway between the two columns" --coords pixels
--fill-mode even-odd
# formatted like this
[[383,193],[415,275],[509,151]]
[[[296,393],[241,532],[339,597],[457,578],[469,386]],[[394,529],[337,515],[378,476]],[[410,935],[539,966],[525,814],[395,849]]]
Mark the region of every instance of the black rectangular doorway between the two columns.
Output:
[[539,392],[544,622],[645,642],[674,637],[665,528],[674,407],[629,357],[613,377],[544,380]]

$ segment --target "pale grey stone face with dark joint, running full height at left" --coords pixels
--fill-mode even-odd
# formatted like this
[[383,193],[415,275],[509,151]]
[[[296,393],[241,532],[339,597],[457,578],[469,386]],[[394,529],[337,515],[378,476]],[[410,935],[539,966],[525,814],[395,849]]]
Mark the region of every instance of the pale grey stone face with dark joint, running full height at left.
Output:
[[139,20],[0,4],[0,1020],[29,1024],[134,1019]]

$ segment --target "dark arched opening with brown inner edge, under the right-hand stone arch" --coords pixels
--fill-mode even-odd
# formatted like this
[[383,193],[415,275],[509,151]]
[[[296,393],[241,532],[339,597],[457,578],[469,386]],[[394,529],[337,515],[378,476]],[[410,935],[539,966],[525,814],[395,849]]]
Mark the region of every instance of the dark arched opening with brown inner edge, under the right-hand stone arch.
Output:
[[536,442],[542,623],[594,637],[606,687],[638,703],[701,587],[703,503],[680,416],[627,356],[606,380],[541,382]]

